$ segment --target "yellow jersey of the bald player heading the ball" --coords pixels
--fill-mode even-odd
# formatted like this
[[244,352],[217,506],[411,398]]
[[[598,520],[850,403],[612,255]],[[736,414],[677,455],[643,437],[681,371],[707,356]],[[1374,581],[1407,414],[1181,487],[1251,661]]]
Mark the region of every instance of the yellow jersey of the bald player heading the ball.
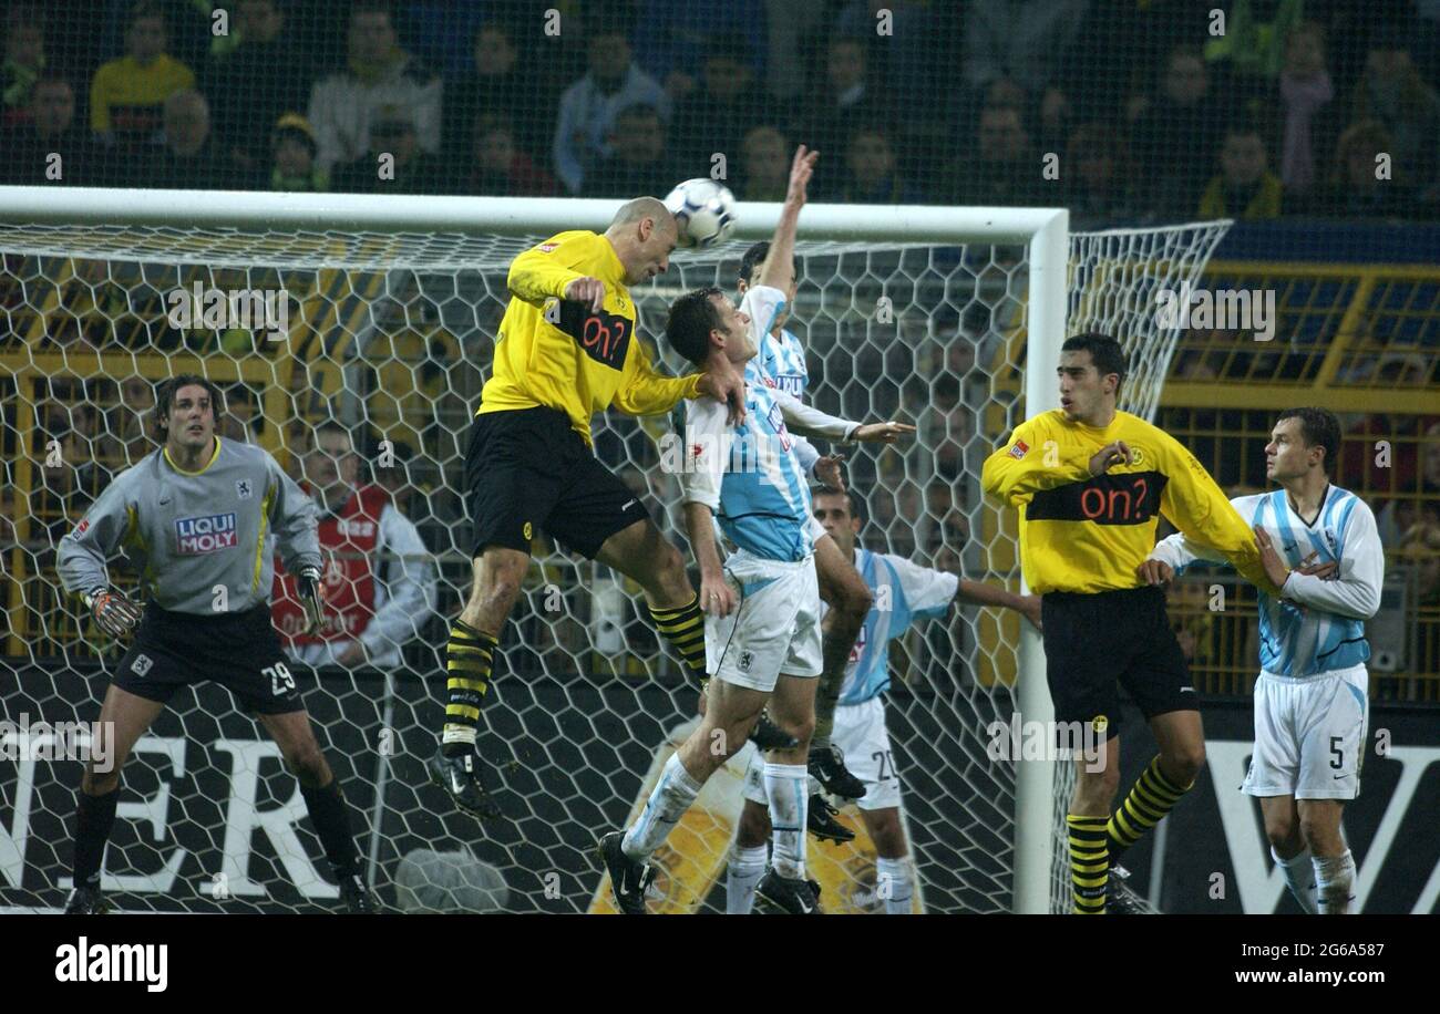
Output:
[[[605,282],[605,306],[563,299],[577,278]],[[662,377],[635,334],[625,266],[603,236],[552,236],[510,265],[510,305],[495,337],[494,374],[475,413],[559,408],[590,444],[590,417],[611,406],[628,416],[670,411],[697,397],[700,374]]]

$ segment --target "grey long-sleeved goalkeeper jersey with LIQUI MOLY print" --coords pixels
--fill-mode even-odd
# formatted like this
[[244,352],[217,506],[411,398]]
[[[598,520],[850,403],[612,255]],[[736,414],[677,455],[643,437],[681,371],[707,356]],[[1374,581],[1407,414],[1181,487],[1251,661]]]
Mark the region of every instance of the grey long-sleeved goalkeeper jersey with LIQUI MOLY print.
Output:
[[199,472],[181,472],[160,449],[115,476],[60,539],[65,590],[108,585],[105,561],[124,547],[151,601],[215,616],[269,601],[276,539],[288,572],[318,568],[314,502],[264,449],[220,437],[216,447]]

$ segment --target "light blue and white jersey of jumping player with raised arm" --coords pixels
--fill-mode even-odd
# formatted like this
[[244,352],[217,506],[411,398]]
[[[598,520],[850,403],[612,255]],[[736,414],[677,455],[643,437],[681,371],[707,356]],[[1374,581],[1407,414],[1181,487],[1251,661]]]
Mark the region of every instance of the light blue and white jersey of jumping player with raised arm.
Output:
[[[740,311],[750,316],[756,345],[783,306],[779,289],[757,285],[746,291]],[[753,362],[746,364],[747,414],[740,426],[726,421],[726,407],[714,398],[684,403],[680,489],[685,503],[704,503],[714,512],[736,547],[765,559],[799,562],[815,548],[808,531],[809,483],[776,394],[759,383]]]

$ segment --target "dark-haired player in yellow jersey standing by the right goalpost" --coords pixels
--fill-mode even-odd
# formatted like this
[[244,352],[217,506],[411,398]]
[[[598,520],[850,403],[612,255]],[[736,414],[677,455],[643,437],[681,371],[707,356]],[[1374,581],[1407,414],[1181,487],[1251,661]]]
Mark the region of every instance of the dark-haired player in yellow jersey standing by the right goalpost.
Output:
[[[1074,912],[1139,910],[1116,860],[1189,791],[1205,762],[1195,686],[1165,616],[1165,593],[1138,584],[1164,513],[1175,528],[1270,590],[1246,521],[1175,437],[1116,410],[1125,351],[1109,335],[1060,347],[1060,408],[1015,427],[985,460],[985,492],[1020,508],[1025,583],[1041,595],[1045,682],[1060,746],[1087,728],[1099,758],[1076,751],[1066,818]],[[1115,813],[1120,785],[1116,680],[1159,744]],[[1097,761],[1097,762],[1096,762]],[[1115,870],[1116,877],[1110,876]]]

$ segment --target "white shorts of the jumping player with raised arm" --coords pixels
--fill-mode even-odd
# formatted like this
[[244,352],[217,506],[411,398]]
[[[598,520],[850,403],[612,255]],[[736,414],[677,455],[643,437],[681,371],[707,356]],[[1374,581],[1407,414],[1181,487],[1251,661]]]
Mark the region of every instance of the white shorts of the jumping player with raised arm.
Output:
[[815,557],[786,564],[740,549],[726,559],[724,577],[740,606],[730,616],[706,616],[706,672],[765,693],[782,675],[819,676]]

